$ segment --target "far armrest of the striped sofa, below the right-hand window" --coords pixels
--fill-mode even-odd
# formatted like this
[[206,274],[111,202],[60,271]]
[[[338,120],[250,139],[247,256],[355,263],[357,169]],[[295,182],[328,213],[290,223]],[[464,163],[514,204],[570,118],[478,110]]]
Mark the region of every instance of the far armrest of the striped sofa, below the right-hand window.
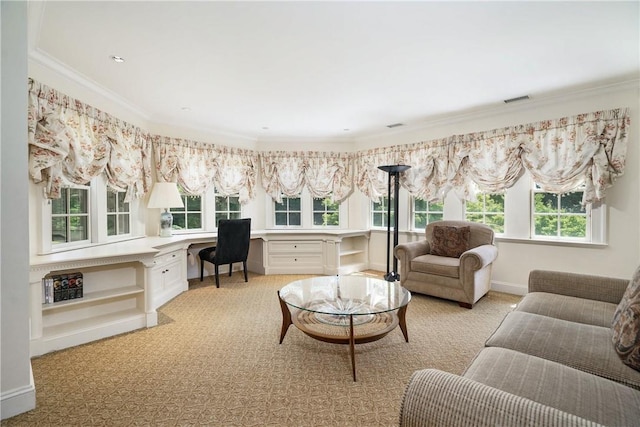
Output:
[[628,279],[592,276],[549,270],[529,273],[529,292],[548,292],[618,304],[629,285]]

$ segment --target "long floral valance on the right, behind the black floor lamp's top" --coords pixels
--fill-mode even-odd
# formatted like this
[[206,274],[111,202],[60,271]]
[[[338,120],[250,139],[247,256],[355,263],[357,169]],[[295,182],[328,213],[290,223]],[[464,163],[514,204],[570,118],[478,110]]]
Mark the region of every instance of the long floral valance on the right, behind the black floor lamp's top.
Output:
[[563,193],[584,184],[583,203],[604,198],[624,171],[628,109],[615,109],[537,123],[455,135],[356,154],[357,186],[377,200],[386,194],[384,164],[406,164],[400,177],[412,195],[442,200],[454,190],[472,200],[476,190],[498,193],[523,170],[548,192]]

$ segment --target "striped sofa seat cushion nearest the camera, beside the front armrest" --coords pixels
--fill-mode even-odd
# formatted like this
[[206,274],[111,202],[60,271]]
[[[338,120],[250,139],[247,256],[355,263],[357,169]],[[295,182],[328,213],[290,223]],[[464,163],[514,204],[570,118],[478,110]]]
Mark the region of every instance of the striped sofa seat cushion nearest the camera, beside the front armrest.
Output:
[[463,376],[604,425],[640,419],[639,390],[513,350],[483,349]]

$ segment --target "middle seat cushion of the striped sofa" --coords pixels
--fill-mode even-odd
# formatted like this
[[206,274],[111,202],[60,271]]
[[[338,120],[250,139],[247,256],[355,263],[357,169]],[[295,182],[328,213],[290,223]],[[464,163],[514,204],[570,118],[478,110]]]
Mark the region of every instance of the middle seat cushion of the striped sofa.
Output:
[[640,372],[611,345],[611,328],[513,311],[486,342],[571,366],[640,389]]

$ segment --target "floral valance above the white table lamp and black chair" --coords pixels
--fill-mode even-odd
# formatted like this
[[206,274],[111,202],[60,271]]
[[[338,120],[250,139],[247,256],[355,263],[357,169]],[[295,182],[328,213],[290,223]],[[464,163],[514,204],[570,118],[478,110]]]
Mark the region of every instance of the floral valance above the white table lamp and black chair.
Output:
[[218,194],[238,194],[242,204],[255,197],[253,151],[163,136],[153,137],[153,151],[159,181],[177,182],[191,195],[213,185]]

